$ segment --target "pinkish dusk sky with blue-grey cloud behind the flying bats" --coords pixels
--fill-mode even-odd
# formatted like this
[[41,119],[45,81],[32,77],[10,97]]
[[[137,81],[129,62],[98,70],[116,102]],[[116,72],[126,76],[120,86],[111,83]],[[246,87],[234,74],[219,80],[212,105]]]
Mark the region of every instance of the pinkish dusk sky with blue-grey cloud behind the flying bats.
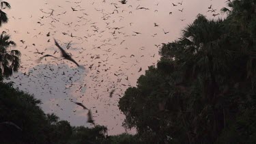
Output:
[[[56,113],[72,126],[93,127],[87,124],[88,111],[74,104],[83,103],[95,123],[106,126],[111,135],[135,133],[122,127],[125,116],[118,101],[128,87],[136,87],[148,66],[157,63],[162,43],[180,38],[198,14],[225,18],[220,12],[225,0],[8,2],[12,8],[3,11],[9,22],[0,29],[22,53],[19,72],[8,81],[42,100],[46,113]],[[54,38],[85,70],[66,59],[37,62],[47,54],[61,57]]]

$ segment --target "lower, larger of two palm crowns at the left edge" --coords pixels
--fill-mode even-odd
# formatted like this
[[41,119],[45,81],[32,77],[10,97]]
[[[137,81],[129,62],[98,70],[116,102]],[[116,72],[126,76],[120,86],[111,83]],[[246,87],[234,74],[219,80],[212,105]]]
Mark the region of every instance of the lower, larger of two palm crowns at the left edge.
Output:
[[10,40],[10,35],[3,31],[0,35],[0,81],[20,68],[20,51],[12,50],[14,46],[16,44]]

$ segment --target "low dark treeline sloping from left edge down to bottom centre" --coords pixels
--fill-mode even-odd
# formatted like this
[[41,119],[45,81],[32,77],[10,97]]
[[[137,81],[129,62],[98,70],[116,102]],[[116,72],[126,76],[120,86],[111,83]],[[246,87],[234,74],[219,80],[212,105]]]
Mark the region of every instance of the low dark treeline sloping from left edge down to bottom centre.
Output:
[[40,100],[0,82],[0,143],[81,144],[136,143],[136,136],[108,136],[105,126],[70,126],[55,114],[45,114]]

